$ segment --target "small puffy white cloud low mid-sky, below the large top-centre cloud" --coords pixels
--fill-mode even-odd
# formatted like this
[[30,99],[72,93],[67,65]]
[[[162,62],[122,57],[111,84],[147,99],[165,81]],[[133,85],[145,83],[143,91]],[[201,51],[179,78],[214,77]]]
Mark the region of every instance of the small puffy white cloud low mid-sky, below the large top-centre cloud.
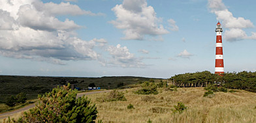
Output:
[[117,46],[108,46],[106,50],[112,56],[112,59],[106,61],[108,66],[121,66],[123,68],[142,68],[145,66],[141,59],[136,58],[125,46],[121,47],[120,44]]

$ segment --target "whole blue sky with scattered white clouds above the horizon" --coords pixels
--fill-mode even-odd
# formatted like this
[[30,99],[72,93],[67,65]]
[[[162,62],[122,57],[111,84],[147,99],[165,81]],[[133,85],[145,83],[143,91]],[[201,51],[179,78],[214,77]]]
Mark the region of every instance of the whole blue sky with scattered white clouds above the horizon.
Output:
[[169,78],[256,71],[256,1],[0,0],[0,75]]

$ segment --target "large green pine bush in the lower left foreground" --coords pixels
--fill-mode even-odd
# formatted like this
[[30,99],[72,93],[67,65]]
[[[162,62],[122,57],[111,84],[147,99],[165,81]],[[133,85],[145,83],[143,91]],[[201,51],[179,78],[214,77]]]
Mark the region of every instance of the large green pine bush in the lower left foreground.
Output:
[[77,91],[70,87],[70,84],[57,87],[52,92],[39,95],[39,104],[24,112],[18,122],[95,122],[95,104],[84,96],[76,98]]

